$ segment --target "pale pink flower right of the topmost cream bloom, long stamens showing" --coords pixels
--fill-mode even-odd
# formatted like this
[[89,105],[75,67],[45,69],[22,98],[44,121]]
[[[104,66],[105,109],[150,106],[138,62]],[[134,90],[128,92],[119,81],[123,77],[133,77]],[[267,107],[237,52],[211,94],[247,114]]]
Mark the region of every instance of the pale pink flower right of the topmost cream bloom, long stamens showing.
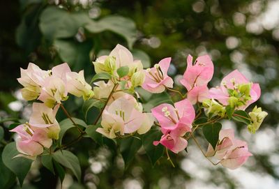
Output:
[[174,81],[167,75],[171,58],[165,58],[153,68],[146,69],[142,88],[151,93],[162,93],[166,87],[172,88]]

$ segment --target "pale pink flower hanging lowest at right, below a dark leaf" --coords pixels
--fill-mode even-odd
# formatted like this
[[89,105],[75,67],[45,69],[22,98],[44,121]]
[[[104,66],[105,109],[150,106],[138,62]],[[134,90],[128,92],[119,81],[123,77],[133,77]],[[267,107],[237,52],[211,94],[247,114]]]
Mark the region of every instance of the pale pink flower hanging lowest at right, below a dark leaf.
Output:
[[216,150],[209,144],[206,156],[217,158],[224,167],[236,169],[243,165],[252,153],[248,151],[246,142],[234,139],[234,130],[225,129],[220,130]]

